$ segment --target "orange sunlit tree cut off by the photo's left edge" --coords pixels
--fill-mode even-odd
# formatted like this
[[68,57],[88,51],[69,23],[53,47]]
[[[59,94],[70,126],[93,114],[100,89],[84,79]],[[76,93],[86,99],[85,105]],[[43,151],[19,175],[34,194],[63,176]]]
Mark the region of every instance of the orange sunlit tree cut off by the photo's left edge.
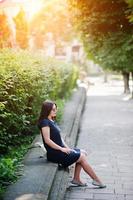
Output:
[[8,25],[7,16],[4,13],[0,14],[0,48],[10,47],[11,30]]

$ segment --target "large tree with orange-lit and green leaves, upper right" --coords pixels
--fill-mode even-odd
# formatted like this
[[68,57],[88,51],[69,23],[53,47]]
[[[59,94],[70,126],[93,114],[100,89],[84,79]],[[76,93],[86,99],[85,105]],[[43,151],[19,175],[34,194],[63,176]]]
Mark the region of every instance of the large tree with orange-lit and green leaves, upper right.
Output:
[[133,71],[133,26],[124,0],[72,0],[73,19],[80,31],[87,55],[106,69],[119,71],[126,80]]

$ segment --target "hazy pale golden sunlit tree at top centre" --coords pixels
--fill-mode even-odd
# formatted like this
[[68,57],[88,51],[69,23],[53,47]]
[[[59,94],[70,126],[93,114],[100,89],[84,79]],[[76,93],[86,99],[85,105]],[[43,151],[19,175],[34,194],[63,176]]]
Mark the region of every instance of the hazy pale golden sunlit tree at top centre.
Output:
[[42,47],[42,40],[46,39],[49,32],[52,33],[56,44],[61,41],[70,41],[74,36],[74,31],[66,1],[46,1],[41,11],[32,19],[30,32],[37,38],[36,46],[39,48]]

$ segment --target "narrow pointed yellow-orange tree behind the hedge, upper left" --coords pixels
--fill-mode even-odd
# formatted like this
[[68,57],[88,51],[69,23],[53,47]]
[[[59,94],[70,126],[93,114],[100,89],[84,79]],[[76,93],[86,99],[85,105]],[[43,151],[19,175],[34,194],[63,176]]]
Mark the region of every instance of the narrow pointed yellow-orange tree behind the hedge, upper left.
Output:
[[24,10],[21,8],[16,17],[14,17],[16,24],[16,42],[22,49],[28,47],[28,22]]

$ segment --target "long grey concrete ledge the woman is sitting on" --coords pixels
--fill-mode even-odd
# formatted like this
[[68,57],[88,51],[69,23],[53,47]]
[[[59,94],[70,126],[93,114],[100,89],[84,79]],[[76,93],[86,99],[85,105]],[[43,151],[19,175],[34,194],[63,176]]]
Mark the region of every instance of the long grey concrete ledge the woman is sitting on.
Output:
[[[85,99],[85,88],[78,88],[64,108],[61,129],[70,146],[76,142]],[[42,142],[41,136],[36,137],[36,142]],[[23,176],[8,188],[4,200],[61,200],[67,180],[68,171],[58,170],[57,164],[46,160],[41,148],[33,148],[25,157]]]

